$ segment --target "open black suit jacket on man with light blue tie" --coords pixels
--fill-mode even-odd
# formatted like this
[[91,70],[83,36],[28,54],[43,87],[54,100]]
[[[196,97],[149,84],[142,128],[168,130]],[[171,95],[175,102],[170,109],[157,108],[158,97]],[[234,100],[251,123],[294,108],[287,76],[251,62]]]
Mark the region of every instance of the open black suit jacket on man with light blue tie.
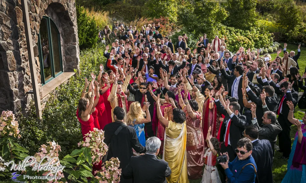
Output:
[[[224,75],[224,77],[227,79],[227,80],[229,80],[229,85],[228,85],[228,92],[229,92],[229,96],[232,96],[232,85],[234,84],[234,81],[235,81],[235,79],[236,79],[236,76],[230,76],[230,75],[228,75],[225,71],[224,71],[224,69],[222,69],[221,70],[221,72],[222,72],[222,75]],[[241,78],[240,78],[240,80],[239,80],[239,83],[238,83],[238,101],[239,101],[239,104],[240,104],[240,107],[244,107],[244,105],[243,105],[243,95],[242,95],[242,90],[241,90],[241,88],[242,88],[242,81],[243,81],[243,76],[241,76]],[[252,83],[252,82],[249,82],[249,84],[248,84],[248,86],[249,87],[253,87],[254,86],[254,84]]]

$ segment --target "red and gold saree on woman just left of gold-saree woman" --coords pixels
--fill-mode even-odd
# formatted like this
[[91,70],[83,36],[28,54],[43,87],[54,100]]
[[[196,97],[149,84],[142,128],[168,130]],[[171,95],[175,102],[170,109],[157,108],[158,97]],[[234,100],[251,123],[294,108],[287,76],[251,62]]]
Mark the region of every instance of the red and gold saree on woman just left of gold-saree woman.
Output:
[[[168,121],[172,121],[172,106],[170,103],[164,103],[160,106],[160,110],[162,111],[162,116],[166,118]],[[159,154],[162,154],[164,148],[164,137],[165,137],[165,125],[163,125],[158,117],[157,117],[157,109],[156,105],[154,106],[154,113],[152,119],[152,128],[156,137],[160,139],[162,144],[160,145]]]

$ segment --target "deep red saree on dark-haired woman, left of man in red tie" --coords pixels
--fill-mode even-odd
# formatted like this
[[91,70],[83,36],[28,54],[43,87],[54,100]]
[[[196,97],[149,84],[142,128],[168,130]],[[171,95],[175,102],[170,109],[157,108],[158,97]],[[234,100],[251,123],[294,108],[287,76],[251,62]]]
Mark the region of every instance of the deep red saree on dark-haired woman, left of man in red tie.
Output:
[[[212,98],[212,100],[215,100]],[[203,119],[202,119],[202,129],[203,137],[206,138],[209,127],[211,126],[211,135],[216,137],[216,122],[217,122],[217,107],[214,105],[213,109],[209,109],[209,97],[205,99],[203,104]],[[205,149],[207,149],[207,142],[205,143]]]

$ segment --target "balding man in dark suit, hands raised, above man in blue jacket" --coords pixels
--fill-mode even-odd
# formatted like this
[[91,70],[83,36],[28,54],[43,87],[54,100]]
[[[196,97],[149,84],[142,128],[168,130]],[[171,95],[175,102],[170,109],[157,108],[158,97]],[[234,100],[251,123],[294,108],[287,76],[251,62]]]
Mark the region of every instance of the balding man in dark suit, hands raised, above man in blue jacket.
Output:
[[266,139],[270,142],[272,152],[273,152],[273,157],[275,154],[275,144],[277,140],[277,135],[282,131],[282,127],[279,125],[278,121],[276,120],[276,114],[272,111],[269,111],[267,105],[263,105],[263,124],[259,126],[256,118],[256,108],[260,107],[258,106],[252,106],[251,111],[252,111],[252,124],[255,125],[258,128],[258,133],[259,133],[259,139],[263,140]]

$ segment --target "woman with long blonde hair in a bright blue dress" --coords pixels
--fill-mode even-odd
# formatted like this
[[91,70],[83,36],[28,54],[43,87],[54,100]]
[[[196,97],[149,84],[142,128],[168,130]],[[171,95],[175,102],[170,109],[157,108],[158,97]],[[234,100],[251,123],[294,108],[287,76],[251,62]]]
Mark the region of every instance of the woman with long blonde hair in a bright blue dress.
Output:
[[[145,98],[147,98],[146,95]],[[127,125],[130,125],[135,129],[138,140],[144,147],[146,145],[146,138],[144,136],[144,124],[151,122],[149,106],[149,102],[145,102],[143,104],[143,108],[141,108],[139,102],[133,102],[131,103],[129,112],[127,114]],[[146,118],[144,118],[145,115],[147,115]]]

